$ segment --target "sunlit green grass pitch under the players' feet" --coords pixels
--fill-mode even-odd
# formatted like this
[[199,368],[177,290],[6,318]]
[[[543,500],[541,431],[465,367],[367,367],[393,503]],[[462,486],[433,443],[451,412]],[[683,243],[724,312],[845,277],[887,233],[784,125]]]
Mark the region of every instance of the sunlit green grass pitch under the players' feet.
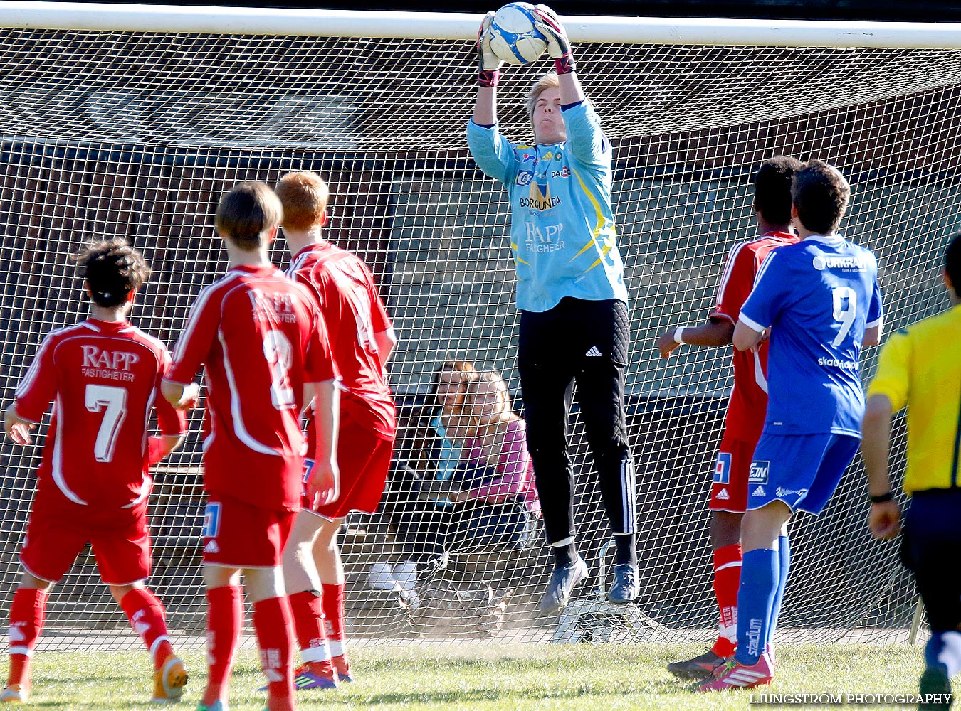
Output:
[[[301,692],[304,709],[666,709],[714,711],[752,706],[751,692],[701,695],[664,670],[699,652],[690,645],[489,645],[364,647],[353,652],[357,681],[333,692]],[[906,694],[917,689],[920,647],[782,646],[779,694]],[[202,652],[185,654],[193,677],[180,708],[193,709],[206,676]],[[31,706],[148,709],[145,652],[44,652],[34,667]],[[263,708],[255,652],[238,654],[231,709]],[[757,694],[757,692],[754,692]],[[804,706],[794,706],[803,708]],[[874,708],[914,708],[887,705]]]

